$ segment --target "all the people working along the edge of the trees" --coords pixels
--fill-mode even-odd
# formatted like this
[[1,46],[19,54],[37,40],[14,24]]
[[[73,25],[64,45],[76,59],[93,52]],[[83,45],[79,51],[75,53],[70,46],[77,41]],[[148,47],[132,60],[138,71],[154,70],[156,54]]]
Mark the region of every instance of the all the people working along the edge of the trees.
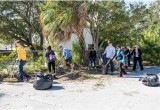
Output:
[[[17,47],[17,52],[18,52],[18,61],[19,61],[19,82],[23,82],[23,78],[25,77],[27,81],[30,80],[31,76],[28,75],[23,71],[23,66],[26,64],[26,50],[24,49],[23,46],[21,46],[20,41],[16,41],[15,46]],[[71,72],[74,70],[74,66],[72,64],[72,53],[69,49],[64,48],[63,46],[59,46],[59,50],[62,51],[62,57],[65,59],[66,63],[70,65]],[[116,46],[116,48],[112,45],[112,42],[108,42],[108,46],[106,47],[104,53],[103,53],[103,65],[106,65],[108,67],[110,65],[111,67],[111,72],[114,71],[114,63],[113,61],[117,61],[119,65],[119,76],[123,77],[123,75],[126,75],[126,71],[124,69],[125,65],[127,64],[128,67],[130,67],[130,60],[134,57],[134,65],[133,65],[133,71],[136,70],[136,65],[137,62],[139,63],[140,69],[143,70],[143,65],[142,65],[142,52],[138,48],[138,46],[135,46],[132,53],[130,53],[130,50],[128,48],[123,48],[120,46]],[[48,62],[48,71],[52,74],[54,74],[54,78],[57,79],[56,77],[56,69],[55,69],[55,60],[56,60],[56,55],[54,50],[51,49],[51,46],[47,47],[47,51],[45,54],[45,57]],[[96,57],[97,53],[94,49],[90,51],[89,54],[90,61],[91,61],[91,66],[96,68]],[[107,68],[106,68],[107,69]],[[108,73],[106,73],[108,74]]]

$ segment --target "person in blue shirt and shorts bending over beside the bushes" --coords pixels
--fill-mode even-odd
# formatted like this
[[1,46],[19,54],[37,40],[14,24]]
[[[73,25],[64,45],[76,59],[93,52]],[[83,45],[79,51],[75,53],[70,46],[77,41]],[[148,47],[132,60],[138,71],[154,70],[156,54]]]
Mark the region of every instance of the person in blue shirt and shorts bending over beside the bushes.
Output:
[[68,63],[71,67],[71,73],[73,72],[73,64],[72,64],[72,53],[69,49],[63,48],[63,46],[59,46],[60,51],[62,51],[62,56],[64,57],[66,63]]

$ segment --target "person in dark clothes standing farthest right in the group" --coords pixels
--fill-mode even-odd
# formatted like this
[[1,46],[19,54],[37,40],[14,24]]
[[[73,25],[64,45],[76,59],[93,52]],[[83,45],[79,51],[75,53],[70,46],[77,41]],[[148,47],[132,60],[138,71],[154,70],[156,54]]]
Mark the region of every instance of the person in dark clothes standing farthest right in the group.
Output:
[[133,71],[136,70],[136,65],[137,65],[137,61],[139,63],[139,66],[141,68],[141,71],[143,70],[143,65],[142,65],[142,52],[141,50],[138,48],[138,46],[135,46],[131,55],[134,56],[134,65],[133,65]]

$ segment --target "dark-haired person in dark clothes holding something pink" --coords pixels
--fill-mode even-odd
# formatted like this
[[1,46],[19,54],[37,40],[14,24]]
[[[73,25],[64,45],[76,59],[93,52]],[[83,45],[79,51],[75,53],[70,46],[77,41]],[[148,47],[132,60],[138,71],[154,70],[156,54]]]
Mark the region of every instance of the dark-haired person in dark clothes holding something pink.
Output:
[[45,54],[45,57],[47,58],[47,61],[48,61],[48,71],[49,71],[49,73],[51,73],[51,71],[53,70],[53,73],[54,73],[53,77],[54,77],[54,79],[58,79],[56,77],[56,75],[55,75],[55,73],[56,73],[56,69],[55,69],[56,56],[55,56],[54,51],[51,49],[51,46],[47,47],[47,52]]

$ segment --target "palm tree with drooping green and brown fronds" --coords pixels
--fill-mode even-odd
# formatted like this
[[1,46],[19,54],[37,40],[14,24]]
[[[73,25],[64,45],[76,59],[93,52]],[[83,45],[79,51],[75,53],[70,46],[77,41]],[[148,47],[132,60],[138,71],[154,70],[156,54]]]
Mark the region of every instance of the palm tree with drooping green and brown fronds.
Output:
[[83,29],[86,26],[87,4],[74,1],[49,1],[42,6],[40,15],[43,34],[53,41],[66,41],[75,33],[86,50]]

